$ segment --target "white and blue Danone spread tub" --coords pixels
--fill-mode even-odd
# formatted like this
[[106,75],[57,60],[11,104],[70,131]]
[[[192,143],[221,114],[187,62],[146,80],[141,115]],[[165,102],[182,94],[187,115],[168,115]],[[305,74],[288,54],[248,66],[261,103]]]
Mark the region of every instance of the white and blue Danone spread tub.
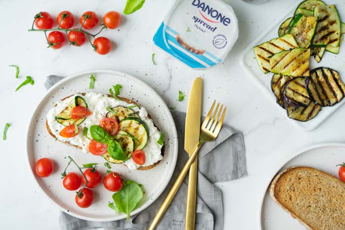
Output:
[[192,68],[224,61],[238,38],[232,7],[221,0],[176,0],[153,42]]

